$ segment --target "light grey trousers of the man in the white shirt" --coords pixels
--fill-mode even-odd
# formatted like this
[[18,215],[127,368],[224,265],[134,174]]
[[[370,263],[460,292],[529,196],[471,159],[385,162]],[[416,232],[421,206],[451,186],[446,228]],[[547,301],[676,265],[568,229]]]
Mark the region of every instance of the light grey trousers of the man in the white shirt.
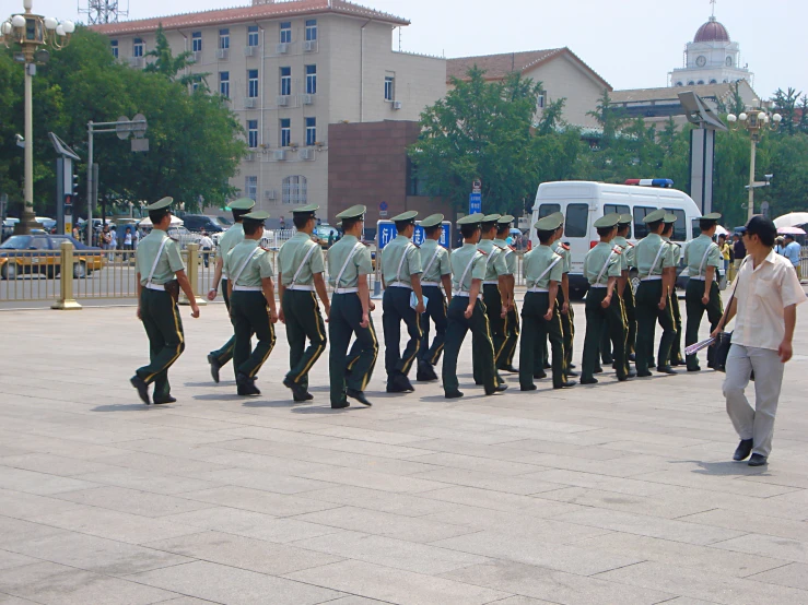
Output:
[[[769,456],[772,451],[774,415],[777,413],[783,369],[776,351],[734,344],[727,356],[724,396],[727,414],[741,439],[752,439],[752,453]],[[745,394],[754,370],[754,407]]]

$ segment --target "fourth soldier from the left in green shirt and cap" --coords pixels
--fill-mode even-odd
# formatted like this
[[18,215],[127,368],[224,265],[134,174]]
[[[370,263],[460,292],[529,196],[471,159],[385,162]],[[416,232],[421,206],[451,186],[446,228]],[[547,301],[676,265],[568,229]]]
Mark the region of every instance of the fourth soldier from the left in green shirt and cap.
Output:
[[[326,324],[315,292],[323,301],[326,317],[331,311],[323,277],[323,248],[312,239],[318,209],[318,205],[311,204],[292,210],[297,233],[281,246],[278,254],[279,319],[286,325],[290,366],[283,384],[292,390],[295,402],[314,399],[308,392],[308,371],[326,349]],[[305,347],[306,339],[308,348]]]

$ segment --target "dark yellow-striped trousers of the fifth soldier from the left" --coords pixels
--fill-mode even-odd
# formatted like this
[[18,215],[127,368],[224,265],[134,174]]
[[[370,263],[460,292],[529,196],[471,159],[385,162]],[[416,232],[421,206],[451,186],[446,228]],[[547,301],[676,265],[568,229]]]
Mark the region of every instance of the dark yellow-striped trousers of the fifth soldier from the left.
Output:
[[[376,366],[378,341],[373,319],[367,328],[362,328],[361,322],[362,301],[359,295],[335,294],[331,297],[331,316],[328,321],[328,339],[331,341],[328,373],[331,381],[332,405],[346,401],[347,388],[364,391]],[[348,345],[353,335],[356,336],[356,342],[349,354]]]

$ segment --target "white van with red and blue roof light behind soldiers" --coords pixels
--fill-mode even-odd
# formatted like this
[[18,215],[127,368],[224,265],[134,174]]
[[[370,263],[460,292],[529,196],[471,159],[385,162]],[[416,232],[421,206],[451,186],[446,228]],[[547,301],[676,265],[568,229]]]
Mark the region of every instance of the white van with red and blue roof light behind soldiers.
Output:
[[[629,233],[629,241],[635,244],[647,235],[646,214],[665,209],[676,214],[671,239],[683,245],[700,234],[699,206],[687,193],[663,187],[642,187],[635,185],[609,185],[593,181],[542,182],[536,193],[532,223],[539,218],[563,212],[565,217],[562,241],[570,246],[572,269],[570,271],[570,297],[581,298],[589,288],[584,278],[584,257],[598,242],[595,221],[606,214],[619,212],[632,214],[634,224]],[[538,246],[536,229],[530,229],[530,242]]]

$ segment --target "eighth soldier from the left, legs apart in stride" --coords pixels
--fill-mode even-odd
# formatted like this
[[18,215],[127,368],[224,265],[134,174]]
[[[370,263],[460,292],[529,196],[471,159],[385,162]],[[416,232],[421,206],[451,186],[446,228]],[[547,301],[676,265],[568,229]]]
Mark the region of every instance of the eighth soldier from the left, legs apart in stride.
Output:
[[488,272],[485,254],[477,247],[482,220],[482,214],[471,214],[457,222],[464,242],[462,247],[452,253],[450,259],[453,295],[443,355],[443,389],[446,399],[462,396],[457,382],[457,357],[468,330],[471,330],[473,367],[479,368],[485,394],[492,395],[507,389],[496,372],[489,316],[480,297]]

